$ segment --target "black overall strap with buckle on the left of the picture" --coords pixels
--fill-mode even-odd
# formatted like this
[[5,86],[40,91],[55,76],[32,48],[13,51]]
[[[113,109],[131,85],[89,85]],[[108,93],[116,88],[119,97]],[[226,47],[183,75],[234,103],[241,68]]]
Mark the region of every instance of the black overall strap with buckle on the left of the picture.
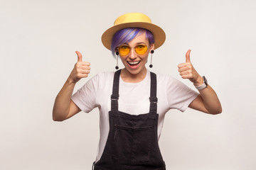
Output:
[[114,73],[113,89],[111,95],[111,111],[118,111],[118,98],[119,98],[119,77],[121,69]]

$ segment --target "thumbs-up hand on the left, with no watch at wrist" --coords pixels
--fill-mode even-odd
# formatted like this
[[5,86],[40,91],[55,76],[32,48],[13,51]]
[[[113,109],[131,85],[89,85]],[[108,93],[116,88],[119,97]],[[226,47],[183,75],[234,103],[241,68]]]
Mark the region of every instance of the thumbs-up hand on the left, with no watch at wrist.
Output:
[[90,73],[90,62],[82,62],[82,55],[80,52],[75,52],[78,55],[78,62],[70,73],[69,80],[71,83],[77,83],[80,79],[88,77]]

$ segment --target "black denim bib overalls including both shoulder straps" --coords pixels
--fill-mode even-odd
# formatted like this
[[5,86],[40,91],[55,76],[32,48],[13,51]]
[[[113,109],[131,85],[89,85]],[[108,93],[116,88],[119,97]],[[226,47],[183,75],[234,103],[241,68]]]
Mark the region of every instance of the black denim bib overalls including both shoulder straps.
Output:
[[165,170],[157,137],[159,115],[156,113],[156,74],[150,73],[149,113],[130,115],[118,111],[120,72],[118,70],[114,73],[109,112],[110,132],[102,157],[94,164],[94,169]]

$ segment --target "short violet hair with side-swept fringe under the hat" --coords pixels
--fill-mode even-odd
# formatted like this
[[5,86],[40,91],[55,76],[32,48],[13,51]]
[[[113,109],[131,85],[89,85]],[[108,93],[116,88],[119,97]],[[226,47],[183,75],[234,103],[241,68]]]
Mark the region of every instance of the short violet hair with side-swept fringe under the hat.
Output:
[[137,35],[141,35],[142,33],[146,33],[146,39],[149,40],[149,45],[154,44],[155,41],[153,34],[149,30],[146,30],[144,28],[124,28],[122,30],[117,31],[117,33],[115,33],[112,38],[112,55],[115,56],[115,49],[119,45],[129,43]]

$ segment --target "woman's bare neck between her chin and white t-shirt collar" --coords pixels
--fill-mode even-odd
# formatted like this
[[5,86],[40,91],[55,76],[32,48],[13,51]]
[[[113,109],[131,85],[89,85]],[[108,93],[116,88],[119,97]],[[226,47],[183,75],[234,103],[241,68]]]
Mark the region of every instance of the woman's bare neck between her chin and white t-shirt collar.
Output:
[[132,74],[125,68],[122,69],[121,71],[122,80],[128,83],[138,83],[144,80],[145,77],[146,77],[146,67],[144,67],[144,69],[142,69],[142,71],[137,74]]

